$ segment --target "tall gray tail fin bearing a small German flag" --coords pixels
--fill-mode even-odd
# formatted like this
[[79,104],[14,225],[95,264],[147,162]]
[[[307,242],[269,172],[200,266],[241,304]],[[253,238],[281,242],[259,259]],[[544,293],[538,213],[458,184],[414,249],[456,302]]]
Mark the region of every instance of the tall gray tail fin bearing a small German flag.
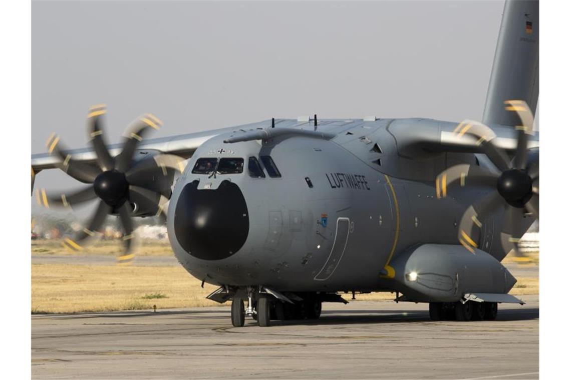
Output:
[[525,100],[535,114],[538,95],[539,1],[506,0],[482,121],[517,125],[504,100]]

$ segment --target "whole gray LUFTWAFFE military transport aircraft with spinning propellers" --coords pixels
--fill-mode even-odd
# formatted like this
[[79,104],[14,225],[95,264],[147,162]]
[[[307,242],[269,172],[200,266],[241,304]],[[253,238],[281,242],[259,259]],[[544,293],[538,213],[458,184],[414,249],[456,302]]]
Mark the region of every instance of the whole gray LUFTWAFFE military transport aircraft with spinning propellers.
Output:
[[493,320],[498,303],[521,302],[500,261],[539,217],[538,34],[538,2],[506,2],[482,122],[314,115],[143,140],[162,124],[148,114],[107,145],[96,105],[91,148],[54,134],[32,156],[33,177],[59,168],[88,185],[35,196],[99,199],[64,244],[82,250],[118,215],[120,263],[134,258],[132,218],[162,215],[176,258],[219,285],[208,298],[231,301],[234,326],[318,318],[339,292],[378,291],[429,303],[433,320]]

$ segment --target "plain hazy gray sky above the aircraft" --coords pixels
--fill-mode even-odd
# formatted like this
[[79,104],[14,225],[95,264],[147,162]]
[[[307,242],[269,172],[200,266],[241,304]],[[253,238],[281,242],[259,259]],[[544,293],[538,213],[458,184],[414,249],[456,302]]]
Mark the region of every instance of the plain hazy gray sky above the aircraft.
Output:
[[[481,120],[503,1],[34,1],[32,152],[53,131],[110,142],[152,112],[153,137],[271,117]],[[77,185],[77,186],[74,186]],[[57,170],[36,186],[81,186]]]

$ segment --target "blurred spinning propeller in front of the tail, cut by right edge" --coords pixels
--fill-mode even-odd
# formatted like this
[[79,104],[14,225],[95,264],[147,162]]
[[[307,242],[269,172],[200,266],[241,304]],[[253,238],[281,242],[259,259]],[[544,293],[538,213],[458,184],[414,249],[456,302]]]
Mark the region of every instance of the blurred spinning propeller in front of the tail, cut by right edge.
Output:
[[501,244],[506,254],[511,251],[516,259],[525,258],[518,250],[518,226],[525,213],[539,219],[539,152],[528,150],[529,136],[533,134],[533,114],[528,104],[522,100],[506,100],[506,111],[516,112],[522,125],[516,126],[517,147],[513,160],[508,154],[493,144],[496,134],[489,126],[477,121],[464,120],[454,133],[457,137],[464,134],[477,139],[486,156],[497,167],[498,173],[482,167],[461,164],[449,167],[436,177],[436,197],[447,197],[450,186],[467,185],[494,189],[464,212],[460,221],[458,240],[468,251],[478,247],[478,236],[482,220],[503,208],[504,220],[501,230]]

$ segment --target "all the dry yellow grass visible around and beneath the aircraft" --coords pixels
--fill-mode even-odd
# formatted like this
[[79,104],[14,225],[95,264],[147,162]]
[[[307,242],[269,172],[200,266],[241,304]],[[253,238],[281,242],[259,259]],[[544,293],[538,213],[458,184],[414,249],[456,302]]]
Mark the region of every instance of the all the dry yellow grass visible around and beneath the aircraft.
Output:
[[[166,240],[148,240],[142,247],[144,249],[139,249],[138,255],[172,255]],[[120,249],[120,242],[100,240],[87,246],[84,253],[116,255]],[[34,256],[73,255],[58,240],[33,240],[31,253]],[[537,265],[534,262],[532,259],[532,263],[525,265]],[[219,305],[204,298],[216,287],[204,284],[204,288],[201,288],[200,281],[179,265],[33,264],[31,280],[32,313],[151,310],[153,305],[157,309]],[[536,278],[520,277],[510,293],[538,294],[539,281]],[[351,300],[351,293],[344,294],[343,297]],[[357,301],[394,298],[393,293],[356,294]]]

